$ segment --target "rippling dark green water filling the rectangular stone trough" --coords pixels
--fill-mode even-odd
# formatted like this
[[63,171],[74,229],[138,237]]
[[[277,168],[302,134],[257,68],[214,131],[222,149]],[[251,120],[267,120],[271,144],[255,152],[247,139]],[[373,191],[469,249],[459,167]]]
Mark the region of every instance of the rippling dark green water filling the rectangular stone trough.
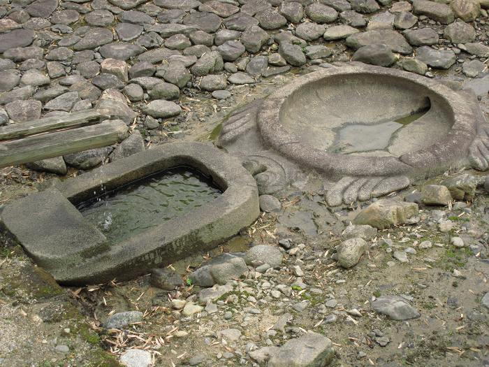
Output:
[[171,168],[78,204],[86,220],[113,242],[136,236],[203,206],[221,194],[192,168]]

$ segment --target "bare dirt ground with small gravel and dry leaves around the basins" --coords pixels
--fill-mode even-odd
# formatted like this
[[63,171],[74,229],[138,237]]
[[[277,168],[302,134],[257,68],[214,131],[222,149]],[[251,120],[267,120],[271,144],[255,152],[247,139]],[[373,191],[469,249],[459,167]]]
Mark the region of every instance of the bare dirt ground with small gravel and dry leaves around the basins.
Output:
[[[441,75],[451,80],[450,75]],[[207,96],[182,99],[188,106],[179,125],[183,136],[168,141],[212,141],[219,122],[234,108],[270,94],[296,78],[288,73],[254,87],[233,87],[233,97],[217,102]],[[481,101],[487,108],[487,96]],[[213,132],[214,131],[214,132]],[[482,176],[475,171],[465,171]],[[70,171],[68,176],[78,174]],[[455,175],[456,173],[446,173]],[[27,168],[4,168],[0,175],[0,201],[34,192],[54,176]],[[444,178],[440,176],[430,182]],[[425,182],[394,196],[403,197]],[[379,231],[370,251],[354,268],[344,270],[330,258],[345,226],[359,207],[326,206],[321,189],[291,192],[282,197],[282,212],[263,214],[242,231],[207,254],[172,264],[187,280],[205,259],[223,252],[244,252],[251,244],[289,238],[294,254],[284,253],[282,267],[252,273],[235,281],[232,292],[214,302],[217,312],[184,317],[173,310],[172,299],[196,299],[200,289],[187,282],[175,292],[149,284],[149,275],[130,282],[59,287],[36,267],[22,248],[5,235],[0,247],[0,366],[119,366],[119,356],[130,348],[152,353],[154,366],[265,366],[249,357],[252,350],[283,345],[307,330],[330,338],[335,346],[333,366],[489,366],[489,310],[481,298],[489,290],[489,196],[479,188],[467,208],[449,210],[421,207],[419,222]],[[366,204],[363,204],[365,206]],[[440,214],[441,210],[441,214]],[[448,233],[437,229],[435,217],[452,220]],[[455,248],[451,236],[467,247]],[[389,241],[392,240],[392,245]],[[432,247],[417,246],[430,240]],[[392,250],[412,247],[409,262],[393,259]],[[307,287],[294,285],[291,267],[299,265]],[[270,289],[286,285],[289,295],[270,296]],[[418,319],[393,321],[370,307],[372,296],[402,294],[421,313]],[[325,306],[328,301],[333,307]],[[302,301],[306,307],[296,310]],[[143,321],[107,331],[109,315],[140,310]],[[225,317],[231,311],[231,317]],[[282,331],[272,327],[291,315]],[[335,322],[327,318],[335,315]],[[325,322],[326,320],[326,322]],[[238,340],[226,340],[224,329],[238,329]],[[179,333],[184,331],[185,333]]]

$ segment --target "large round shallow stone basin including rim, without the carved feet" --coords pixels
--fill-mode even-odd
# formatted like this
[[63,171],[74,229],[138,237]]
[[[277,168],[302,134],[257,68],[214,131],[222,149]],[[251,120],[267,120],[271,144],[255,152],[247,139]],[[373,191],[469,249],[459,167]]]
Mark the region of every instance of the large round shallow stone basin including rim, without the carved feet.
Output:
[[356,65],[278,89],[258,128],[286,157],[341,177],[442,170],[467,156],[475,120],[464,94],[435,80]]

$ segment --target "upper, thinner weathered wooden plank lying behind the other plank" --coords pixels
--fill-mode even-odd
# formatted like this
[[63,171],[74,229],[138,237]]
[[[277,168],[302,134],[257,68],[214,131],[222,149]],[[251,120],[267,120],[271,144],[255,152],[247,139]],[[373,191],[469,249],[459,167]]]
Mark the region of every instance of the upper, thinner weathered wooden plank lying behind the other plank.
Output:
[[97,110],[87,110],[70,113],[64,116],[45,117],[39,120],[20,122],[0,127],[0,141],[43,133],[58,129],[82,127],[95,122],[101,122],[106,116]]

